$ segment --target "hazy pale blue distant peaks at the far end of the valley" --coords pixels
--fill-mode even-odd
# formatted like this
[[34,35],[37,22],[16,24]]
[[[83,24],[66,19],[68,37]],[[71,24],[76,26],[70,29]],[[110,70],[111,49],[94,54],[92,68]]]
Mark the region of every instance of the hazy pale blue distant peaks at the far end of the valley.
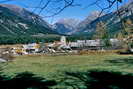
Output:
[[[99,11],[93,11],[83,21],[79,21],[76,19],[61,19],[54,24],[54,30],[60,34],[65,35],[89,34],[95,29],[88,28],[88,25],[91,25],[91,23],[98,18],[99,14]],[[102,14],[101,16],[103,15],[104,14]]]

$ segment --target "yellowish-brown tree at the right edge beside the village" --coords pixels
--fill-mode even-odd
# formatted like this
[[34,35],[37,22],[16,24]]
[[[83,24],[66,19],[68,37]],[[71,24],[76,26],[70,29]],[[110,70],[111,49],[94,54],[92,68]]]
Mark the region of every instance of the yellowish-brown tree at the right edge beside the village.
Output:
[[121,42],[124,49],[133,48],[133,24],[130,19],[122,22],[123,29],[117,34],[116,38]]

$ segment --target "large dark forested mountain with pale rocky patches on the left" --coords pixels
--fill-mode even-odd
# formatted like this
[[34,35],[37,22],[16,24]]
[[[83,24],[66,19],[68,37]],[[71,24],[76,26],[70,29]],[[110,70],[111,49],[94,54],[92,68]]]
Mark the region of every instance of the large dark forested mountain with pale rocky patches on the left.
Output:
[[42,18],[24,8],[0,4],[0,36],[57,34]]

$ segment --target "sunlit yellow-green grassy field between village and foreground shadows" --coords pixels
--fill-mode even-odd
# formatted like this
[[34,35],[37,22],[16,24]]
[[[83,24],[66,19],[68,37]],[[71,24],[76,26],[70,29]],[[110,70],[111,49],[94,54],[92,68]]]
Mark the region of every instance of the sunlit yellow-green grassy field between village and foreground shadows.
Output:
[[58,78],[64,71],[83,72],[88,70],[108,70],[133,73],[132,55],[67,55],[67,56],[18,56],[14,61],[1,64],[3,73],[15,75],[32,72],[47,78]]

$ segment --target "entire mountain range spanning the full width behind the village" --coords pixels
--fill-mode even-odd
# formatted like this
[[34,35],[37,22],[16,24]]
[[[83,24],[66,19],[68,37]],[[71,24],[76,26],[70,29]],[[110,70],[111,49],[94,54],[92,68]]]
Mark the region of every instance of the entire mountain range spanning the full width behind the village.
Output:
[[[123,5],[119,11],[122,13],[122,19],[129,18],[133,21],[133,2]],[[50,25],[37,14],[31,13],[24,8],[16,5],[0,4],[0,36],[37,36],[40,34],[90,35],[95,32],[96,25],[100,21],[106,23],[110,34],[121,30],[117,11],[102,14],[98,18],[99,13],[94,11],[83,21],[60,19],[54,25]]]

